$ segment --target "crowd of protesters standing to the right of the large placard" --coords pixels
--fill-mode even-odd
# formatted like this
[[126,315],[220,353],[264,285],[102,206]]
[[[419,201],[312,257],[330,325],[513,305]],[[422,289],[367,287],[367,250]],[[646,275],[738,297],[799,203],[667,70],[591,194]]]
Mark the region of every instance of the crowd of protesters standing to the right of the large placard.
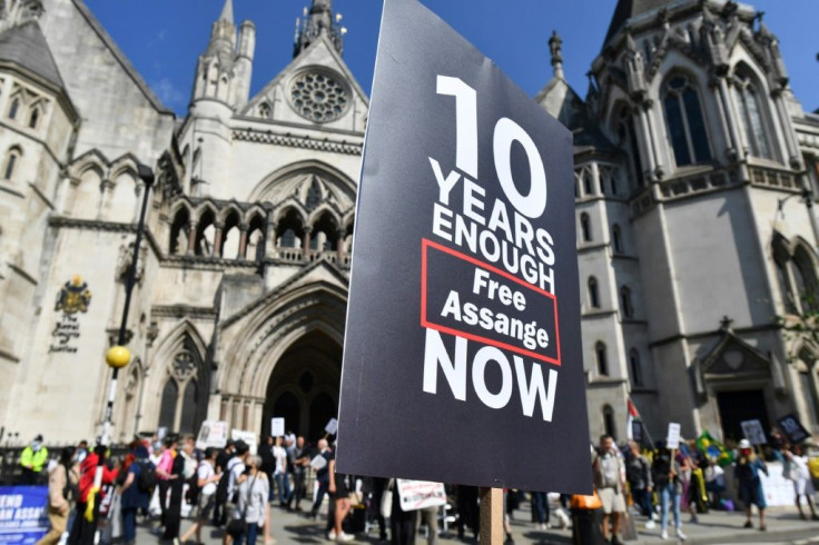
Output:
[[[689,514],[690,524],[697,524],[698,515],[709,509],[737,509],[739,506],[731,496],[744,509],[743,527],[754,527],[752,508],[756,507],[759,516],[756,527],[764,532],[767,502],[760,475],[768,476],[766,459],[782,464],[782,476],[793,484],[800,517],[808,519],[803,501],[810,518],[819,521],[813,504],[813,480],[819,480],[819,464],[811,462],[809,467],[801,446],[789,445],[778,430],[771,433],[770,439],[762,450],[748,439],[741,439],[736,448],[727,448],[708,433],[675,448],[667,448],[664,442],[657,443],[654,448],[629,442],[626,448],[620,448],[611,436],[601,437],[600,445],[592,447],[592,467],[599,497],[599,505],[594,503],[593,507],[602,511],[603,541],[621,543],[628,499],[645,517],[647,529],[655,528],[659,518],[662,539],[669,538],[672,524],[677,538],[687,538],[682,513]],[[734,494],[727,494],[726,469],[729,468]]]

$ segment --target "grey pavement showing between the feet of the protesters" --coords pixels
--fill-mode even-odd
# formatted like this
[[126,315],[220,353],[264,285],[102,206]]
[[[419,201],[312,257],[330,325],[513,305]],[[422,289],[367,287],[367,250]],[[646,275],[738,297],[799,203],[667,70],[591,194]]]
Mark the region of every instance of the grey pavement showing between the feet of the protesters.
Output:
[[[303,514],[290,513],[287,511],[273,507],[273,536],[276,545],[290,544],[319,544],[330,543],[324,533],[324,521],[314,522]],[[756,527],[753,529],[743,528],[744,515],[741,513],[712,512],[708,515],[700,515],[699,524],[687,524],[688,515],[683,515],[683,532],[688,541],[687,544],[728,544],[728,543],[754,543],[754,544],[788,544],[788,545],[808,545],[819,544],[819,522],[801,521],[798,516],[796,507],[772,507],[768,509],[768,531],[760,532]],[[529,503],[523,503],[523,508],[514,514],[512,521],[512,535],[516,545],[520,544],[571,544],[571,529],[559,528],[540,531],[535,525],[530,523]],[[554,521],[554,517],[553,517]],[[754,518],[754,526],[758,519]],[[182,521],[182,532],[190,527],[190,521]],[[660,528],[651,531],[645,529],[645,518],[635,517],[637,529],[639,533],[638,541],[626,542],[628,544],[660,544],[660,543],[679,543],[673,537],[673,531],[670,538],[665,542],[660,539]],[[220,545],[223,532],[211,526],[203,529],[203,542],[205,545]],[[471,536],[467,533],[467,536]],[[369,534],[356,535],[355,542],[351,543],[378,543],[378,531],[373,528]],[[424,531],[422,529],[417,543],[425,543]],[[151,534],[150,528],[146,525],[139,527],[137,544],[138,545],[158,545],[161,541]],[[450,532],[450,536],[442,536],[438,543],[461,543],[455,536],[454,529]],[[257,541],[257,545],[264,545],[262,536]]]

